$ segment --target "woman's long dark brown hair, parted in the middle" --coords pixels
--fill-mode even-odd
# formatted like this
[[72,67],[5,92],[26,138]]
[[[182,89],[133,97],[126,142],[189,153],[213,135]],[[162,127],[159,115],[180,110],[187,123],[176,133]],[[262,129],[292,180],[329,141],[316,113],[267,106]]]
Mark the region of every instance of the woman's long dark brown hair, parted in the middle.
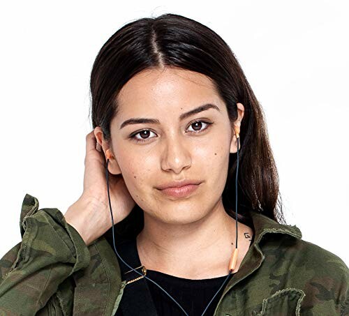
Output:
[[[244,105],[239,150],[239,221],[251,223],[248,211],[258,211],[285,223],[279,174],[262,107],[228,44],[200,22],[167,13],[134,20],[115,32],[98,52],[91,71],[93,128],[101,126],[105,140],[110,142],[110,121],[117,115],[117,95],[122,86],[142,70],[163,67],[191,70],[211,78],[225,101],[230,122],[237,119],[237,103]],[[237,153],[230,153],[222,201],[233,218],[236,167]],[[135,208],[139,214],[137,204]],[[140,216],[132,216],[133,223],[142,222]]]

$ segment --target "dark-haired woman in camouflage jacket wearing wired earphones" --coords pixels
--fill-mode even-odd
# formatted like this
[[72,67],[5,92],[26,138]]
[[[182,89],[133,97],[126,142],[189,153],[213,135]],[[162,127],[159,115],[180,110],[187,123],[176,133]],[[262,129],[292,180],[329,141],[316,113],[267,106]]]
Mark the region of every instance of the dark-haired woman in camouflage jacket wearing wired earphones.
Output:
[[84,191],[64,215],[24,197],[4,315],[348,315],[348,267],[285,224],[262,108],[220,36],[126,24],[91,95]]

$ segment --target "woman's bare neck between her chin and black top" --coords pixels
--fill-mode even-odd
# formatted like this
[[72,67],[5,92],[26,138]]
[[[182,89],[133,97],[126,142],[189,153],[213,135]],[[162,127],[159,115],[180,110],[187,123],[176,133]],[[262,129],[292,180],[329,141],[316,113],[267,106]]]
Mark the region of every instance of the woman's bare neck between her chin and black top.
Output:
[[[140,261],[146,269],[181,278],[225,276],[235,249],[235,230],[235,219],[223,204],[184,225],[163,223],[144,213],[144,228],[137,236]],[[239,248],[245,231],[251,235],[251,229],[239,223]]]

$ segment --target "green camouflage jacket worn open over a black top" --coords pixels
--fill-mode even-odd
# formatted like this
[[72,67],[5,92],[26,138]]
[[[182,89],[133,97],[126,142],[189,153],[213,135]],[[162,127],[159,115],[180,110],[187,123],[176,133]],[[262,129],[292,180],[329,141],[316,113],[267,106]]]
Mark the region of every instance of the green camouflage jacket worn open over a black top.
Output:
[[[25,195],[22,241],[0,260],[0,315],[114,315],[126,282],[110,243],[86,246],[59,209],[38,205]],[[254,241],[214,315],[349,315],[343,260],[295,225],[251,216]]]

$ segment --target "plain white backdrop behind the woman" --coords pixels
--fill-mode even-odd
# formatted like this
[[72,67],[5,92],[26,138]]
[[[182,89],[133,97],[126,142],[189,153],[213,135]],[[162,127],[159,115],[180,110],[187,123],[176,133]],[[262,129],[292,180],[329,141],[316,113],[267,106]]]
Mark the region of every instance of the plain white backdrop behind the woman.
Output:
[[230,45],[267,119],[283,211],[349,263],[346,1],[15,1],[1,4],[0,257],[24,195],[65,213],[82,193],[89,75],[124,24],[177,13]]

